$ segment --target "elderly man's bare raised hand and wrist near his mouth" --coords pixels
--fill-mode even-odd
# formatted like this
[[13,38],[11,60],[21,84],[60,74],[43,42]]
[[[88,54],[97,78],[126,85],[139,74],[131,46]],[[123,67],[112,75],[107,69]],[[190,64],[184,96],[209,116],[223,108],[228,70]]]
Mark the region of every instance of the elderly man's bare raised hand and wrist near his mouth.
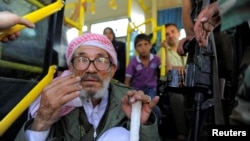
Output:
[[46,131],[57,121],[64,104],[79,96],[80,78],[71,75],[52,81],[41,93],[40,107],[30,130]]

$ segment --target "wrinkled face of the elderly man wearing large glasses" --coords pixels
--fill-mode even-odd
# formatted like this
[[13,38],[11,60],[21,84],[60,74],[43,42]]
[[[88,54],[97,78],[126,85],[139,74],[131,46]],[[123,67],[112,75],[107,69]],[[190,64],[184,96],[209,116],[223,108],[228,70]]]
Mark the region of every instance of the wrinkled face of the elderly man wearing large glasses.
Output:
[[[110,58],[108,53],[98,47],[95,46],[80,46],[74,52],[73,58],[76,56],[81,56],[84,58],[88,58],[90,60],[89,66],[85,70],[77,70],[73,65],[73,62],[69,66],[70,71],[74,72],[76,76],[81,77],[81,86],[83,87],[83,91],[85,95],[88,97],[100,97],[95,96],[97,93],[104,91],[107,89],[108,84],[113,77],[116,66],[112,64],[106,70],[98,70],[94,65],[93,60],[96,58]],[[84,60],[81,60],[84,61]],[[84,96],[86,97],[86,96]]]

